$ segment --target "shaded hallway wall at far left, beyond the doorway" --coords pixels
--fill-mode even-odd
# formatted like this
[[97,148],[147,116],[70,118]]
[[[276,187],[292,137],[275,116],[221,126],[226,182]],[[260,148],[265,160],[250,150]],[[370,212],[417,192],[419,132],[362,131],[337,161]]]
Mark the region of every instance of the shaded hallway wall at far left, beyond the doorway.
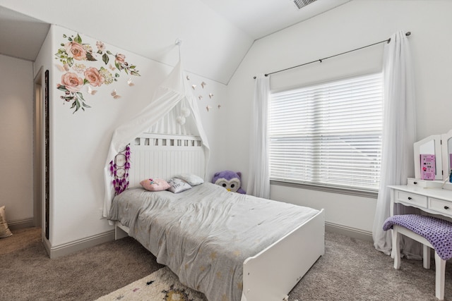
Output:
[[0,55],[0,206],[8,223],[33,218],[32,62]]

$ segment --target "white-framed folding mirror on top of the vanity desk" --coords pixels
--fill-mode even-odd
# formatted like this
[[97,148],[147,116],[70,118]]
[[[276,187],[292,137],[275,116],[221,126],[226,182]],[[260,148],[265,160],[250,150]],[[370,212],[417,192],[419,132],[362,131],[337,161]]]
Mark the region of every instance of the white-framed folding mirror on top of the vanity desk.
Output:
[[[421,154],[435,156],[434,180],[446,180],[452,170],[452,130],[446,134],[431,135],[413,145],[415,154],[415,178],[422,178]],[[432,179],[433,180],[433,179]]]

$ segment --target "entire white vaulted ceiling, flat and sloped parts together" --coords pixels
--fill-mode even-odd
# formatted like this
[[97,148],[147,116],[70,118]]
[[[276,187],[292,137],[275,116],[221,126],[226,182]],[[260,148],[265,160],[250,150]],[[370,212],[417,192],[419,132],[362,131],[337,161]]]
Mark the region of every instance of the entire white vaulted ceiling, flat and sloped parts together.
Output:
[[227,84],[256,39],[347,1],[0,0],[0,54],[34,61],[55,24],[174,66],[181,39],[186,70]]

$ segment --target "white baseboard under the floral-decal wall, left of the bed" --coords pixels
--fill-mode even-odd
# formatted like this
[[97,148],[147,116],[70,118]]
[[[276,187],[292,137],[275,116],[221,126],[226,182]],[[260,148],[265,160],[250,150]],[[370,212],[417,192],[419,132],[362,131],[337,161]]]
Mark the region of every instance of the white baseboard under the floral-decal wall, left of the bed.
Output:
[[47,239],[43,239],[44,247],[47,250],[47,254],[51,259],[62,257],[73,252],[77,252],[88,247],[94,247],[95,245],[100,245],[104,242],[109,242],[114,240],[114,230],[100,233],[97,235],[90,236],[88,238],[83,238],[81,240],[74,240],[72,242],[67,242],[63,245],[50,246]]

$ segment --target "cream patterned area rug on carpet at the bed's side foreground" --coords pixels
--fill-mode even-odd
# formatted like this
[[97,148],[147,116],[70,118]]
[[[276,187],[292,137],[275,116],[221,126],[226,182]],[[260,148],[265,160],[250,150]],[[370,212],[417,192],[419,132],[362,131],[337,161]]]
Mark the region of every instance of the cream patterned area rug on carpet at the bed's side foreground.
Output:
[[97,299],[112,300],[207,301],[202,293],[182,285],[167,266]]

